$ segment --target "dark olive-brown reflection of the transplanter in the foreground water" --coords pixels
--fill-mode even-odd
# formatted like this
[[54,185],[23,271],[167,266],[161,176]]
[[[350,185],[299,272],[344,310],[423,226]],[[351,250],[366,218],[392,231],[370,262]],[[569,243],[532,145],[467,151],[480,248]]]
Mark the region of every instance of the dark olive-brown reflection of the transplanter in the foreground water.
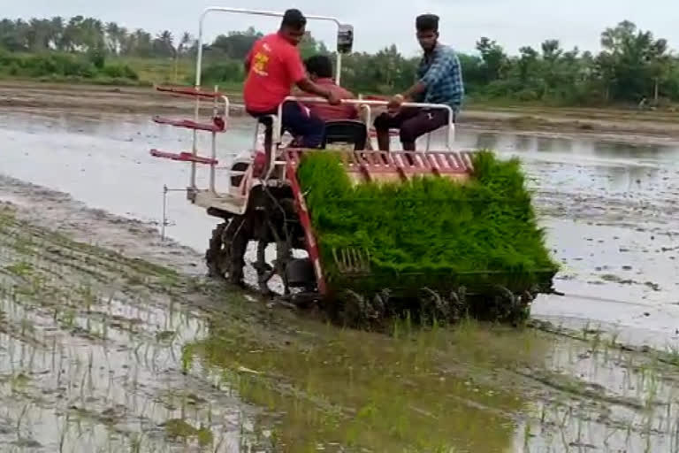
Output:
[[[403,324],[390,338],[292,322],[300,330],[283,344],[267,340],[280,334],[276,326],[215,320],[208,338],[185,349],[190,366],[267,407],[260,419],[277,420],[273,437],[288,451],[507,451],[512,414],[528,402],[486,373],[545,349],[532,334],[473,325],[423,332]],[[460,372],[468,366],[476,372]]]

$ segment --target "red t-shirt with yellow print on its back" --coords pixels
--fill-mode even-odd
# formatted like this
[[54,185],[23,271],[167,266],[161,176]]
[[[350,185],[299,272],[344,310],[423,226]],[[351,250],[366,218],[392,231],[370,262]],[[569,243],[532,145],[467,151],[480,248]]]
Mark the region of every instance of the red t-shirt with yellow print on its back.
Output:
[[300,52],[284,37],[266,35],[252,46],[243,98],[248,111],[273,111],[290,96],[290,88],[307,76]]

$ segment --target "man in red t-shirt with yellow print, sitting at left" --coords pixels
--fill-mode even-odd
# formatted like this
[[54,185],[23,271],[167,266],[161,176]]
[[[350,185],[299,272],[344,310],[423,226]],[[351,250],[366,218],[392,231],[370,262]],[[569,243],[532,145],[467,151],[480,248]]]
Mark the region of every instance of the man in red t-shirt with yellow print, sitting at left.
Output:
[[[340,104],[336,94],[309,80],[297,45],[304,37],[307,19],[299,10],[287,10],[278,33],[266,35],[249,51],[245,60],[248,78],[243,89],[245,108],[256,118],[278,114],[278,105],[290,96],[293,85],[330,104]],[[283,130],[302,137],[301,146],[318,148],[323,142],[325,123],[302,109],[301,104],[283,105]]]

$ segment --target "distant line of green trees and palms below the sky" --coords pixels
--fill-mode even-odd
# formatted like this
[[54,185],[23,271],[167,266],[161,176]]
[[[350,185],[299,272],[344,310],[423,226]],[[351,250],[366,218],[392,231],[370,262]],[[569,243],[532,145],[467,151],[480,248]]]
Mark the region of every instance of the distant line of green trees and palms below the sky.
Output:
[[[242,81],[242,60],[261,36],[250,27],[218,35],[205,44],[204,80]],[[469,96],[480,99],[573,105],[679,101],[679,58],[665,39],[623,21],[601,34],[601,47],[599,54],[593,54],[577,48],[564,50],[559,41],[548,40],[539,49],[526,46],[518,55],[509,55],[500,43],[482,37],[476,54],[461,53],[460,58]],[[107,56],[191,58],[197,42],[189,33],[176,39],[169,31],[151,35],[76,16],[0,20],[2,49],[5,53],[82,55],[102,69]],[[324,42],[307,35],[301,54],[314,53],[332,52]],[[404,57],[395,45],[374,54],[355,52],[344,58],[343,85],[362,93],[400,91],[415,80],[418,60]],[[126,69],[110,72],[125,76]],[[133,76],[129,71],[127,75]]]

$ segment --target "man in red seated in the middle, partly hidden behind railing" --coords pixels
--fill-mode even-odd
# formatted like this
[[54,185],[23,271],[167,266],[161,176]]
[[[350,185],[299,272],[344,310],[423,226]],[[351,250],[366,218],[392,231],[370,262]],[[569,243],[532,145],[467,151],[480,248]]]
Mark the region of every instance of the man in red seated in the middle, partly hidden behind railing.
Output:
[[[332,79],[332,61],[325,55],[315,55],[307,58],[304,61],[307,67],[307,73],[311,81],[324,88],[333,91],[340,99],[355,99],[356,96],[351,91],[340,87]],[[318,118],[324,121],[332,119],[357,119],[358,110],[353,104],[344,105],[328,105],[309,103],[302,100],[302,104],[306,106],[312,114],[317,115]]]

